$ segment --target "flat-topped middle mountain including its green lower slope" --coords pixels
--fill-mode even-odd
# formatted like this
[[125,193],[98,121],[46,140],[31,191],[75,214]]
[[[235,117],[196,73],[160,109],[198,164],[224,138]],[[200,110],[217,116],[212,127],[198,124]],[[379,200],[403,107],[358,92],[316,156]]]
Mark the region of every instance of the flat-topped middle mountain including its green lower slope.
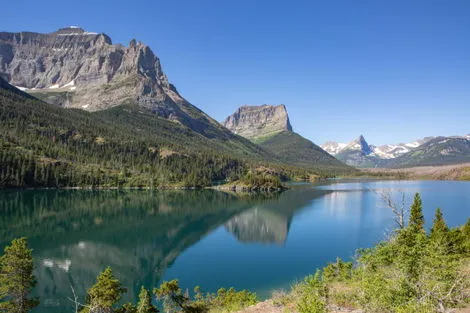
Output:
[[287,109],[282,104],[242,106],[227,117],[224,126],[257,143],[284,163],[330,174],[352,170],[310,140],[295,133]]

